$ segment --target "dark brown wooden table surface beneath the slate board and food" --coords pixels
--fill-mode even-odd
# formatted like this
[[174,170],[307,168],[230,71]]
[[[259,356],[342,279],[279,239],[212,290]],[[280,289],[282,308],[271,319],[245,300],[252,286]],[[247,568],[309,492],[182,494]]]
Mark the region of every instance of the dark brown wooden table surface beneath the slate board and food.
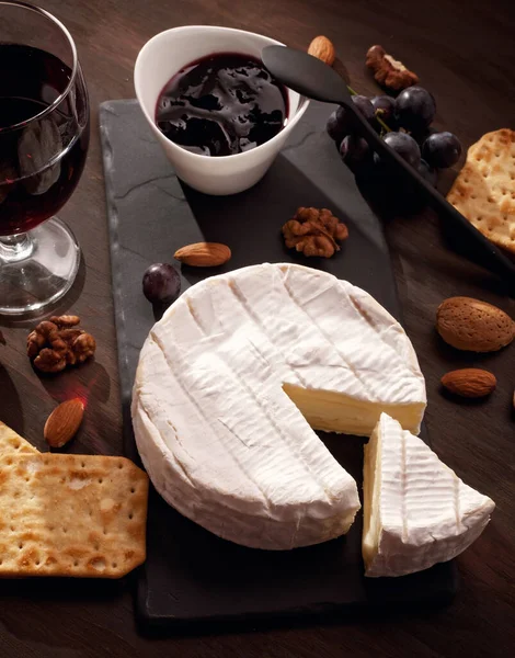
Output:
[[[465,146],[483,133],[515,128],[515,4],[510,0],[42,0],[76,38],[92,106],[92,144],[77,192],[61,217],[72,225],[83,266],[62,305],[96,337],[96,360],[55,379],[38,378],[25,355],[26,325],[0,327],[0,418],[43,447],[44,421],[70,389],[89,392],[88,413],[73,452],[119,454],[121,410],[98,106],[134,97],[133,66],[144,43],[181,24],[222,24],[262,32],[305,48],[317,34],[337,47],[362,93],[378,92],[364,67],[380,43],[410,68],[437,100],[436,125]],[[444,182],[445,184],[445,182]],[[141,217],[142,225],[145,217]],[[465,480],[497,503],[491,524],[459,559],[462,582],[455,603],[424,616],[396,615],[331,625],[254,629],[201,637],[145,637],[133,613],[130,580],[122,582],[0,582],[0,656],[68,658],[180,656],[181,658],[308,658],[348,655],[491,658],[515,647],[515,347],[485,356],[445,348],[434,331],[435,309],[451,295],[496,304],[515,317],[515,302],[493,277],[449,251],[438,219],[426,212],[387,224],[405,326],[427,381],[434,447]],[[139,291],[135,291],[139,294]],[[495,373],[491,399],[458,405],[438,381],[476,364]],[[511,647],[511,649],[510,649]]]

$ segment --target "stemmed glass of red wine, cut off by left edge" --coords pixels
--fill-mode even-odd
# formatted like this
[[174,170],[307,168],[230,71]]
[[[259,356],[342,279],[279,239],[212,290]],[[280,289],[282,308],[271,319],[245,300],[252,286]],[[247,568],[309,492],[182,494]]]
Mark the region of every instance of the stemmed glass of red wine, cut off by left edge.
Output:
[[79,182],[89,133],[68,30],[0,0],[0,315],[41,311],[73,283],[79,246],[55,213]]

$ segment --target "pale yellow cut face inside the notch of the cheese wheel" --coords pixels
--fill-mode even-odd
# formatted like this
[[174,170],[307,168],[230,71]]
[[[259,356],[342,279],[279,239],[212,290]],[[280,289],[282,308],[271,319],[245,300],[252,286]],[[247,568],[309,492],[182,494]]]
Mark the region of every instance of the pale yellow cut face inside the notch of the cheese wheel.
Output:
[[420,431],[424,402],[394,405],[359,400],[331,390],[313,390],[284,384],[288,395],[313,430],[370,436],[382,412],[413,433]]

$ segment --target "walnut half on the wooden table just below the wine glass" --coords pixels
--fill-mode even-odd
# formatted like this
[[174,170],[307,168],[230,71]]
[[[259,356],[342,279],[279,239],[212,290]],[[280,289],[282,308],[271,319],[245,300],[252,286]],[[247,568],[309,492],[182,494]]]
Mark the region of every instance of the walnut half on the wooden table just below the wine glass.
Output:
[[78,316],[53,316],[39,322],[27,338],[27,354],[34,367],[44,373],[59,373],[68,365],[83,363],[93,356],[94,338],[78,329]]

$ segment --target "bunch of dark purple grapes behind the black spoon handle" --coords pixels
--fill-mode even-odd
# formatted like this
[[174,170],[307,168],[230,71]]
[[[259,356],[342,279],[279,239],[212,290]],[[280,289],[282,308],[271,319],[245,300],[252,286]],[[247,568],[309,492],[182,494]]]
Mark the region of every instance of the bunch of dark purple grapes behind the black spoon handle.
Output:
[[[461,144],[456,135],[431,133],[436,104],[422,87],[409,87],[396,99],[377,95],[370,100],[356,94],[352,101],[388,146],[432,185],[436,185],[437,169],[453,167],[459,160]],[[355,174],[381,172],[381,159],[365,139],[354,134],[353,116],[343,106],[331,114],[327,129],[351,171]]]

